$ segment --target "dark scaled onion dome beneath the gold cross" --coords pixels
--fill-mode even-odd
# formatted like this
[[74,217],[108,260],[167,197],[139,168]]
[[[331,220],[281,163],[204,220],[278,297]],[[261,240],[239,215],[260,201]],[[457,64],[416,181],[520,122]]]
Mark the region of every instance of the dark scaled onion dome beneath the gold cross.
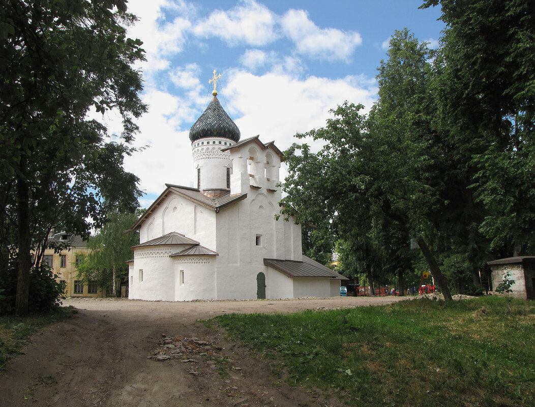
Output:
[[213,96],[204,113],[189,130],[189,140],[192,143],[206,137],[223,137],[236,143],[240,140],[238,126],[223,110],[216,95]]

